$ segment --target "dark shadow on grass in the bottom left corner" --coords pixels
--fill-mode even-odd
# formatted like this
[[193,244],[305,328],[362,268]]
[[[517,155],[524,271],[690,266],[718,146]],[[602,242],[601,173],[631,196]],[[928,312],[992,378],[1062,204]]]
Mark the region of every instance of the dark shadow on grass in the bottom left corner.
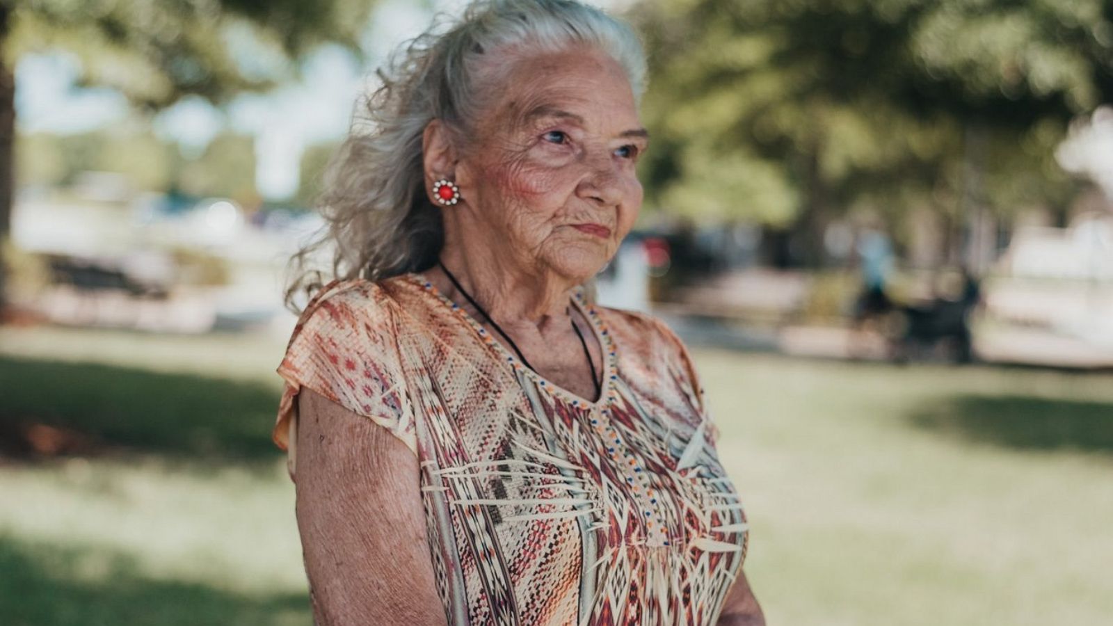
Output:
[[305,625],[306,594],[247,597],[152,580],[119,554],[0,536],[0,615],[11,626]]

